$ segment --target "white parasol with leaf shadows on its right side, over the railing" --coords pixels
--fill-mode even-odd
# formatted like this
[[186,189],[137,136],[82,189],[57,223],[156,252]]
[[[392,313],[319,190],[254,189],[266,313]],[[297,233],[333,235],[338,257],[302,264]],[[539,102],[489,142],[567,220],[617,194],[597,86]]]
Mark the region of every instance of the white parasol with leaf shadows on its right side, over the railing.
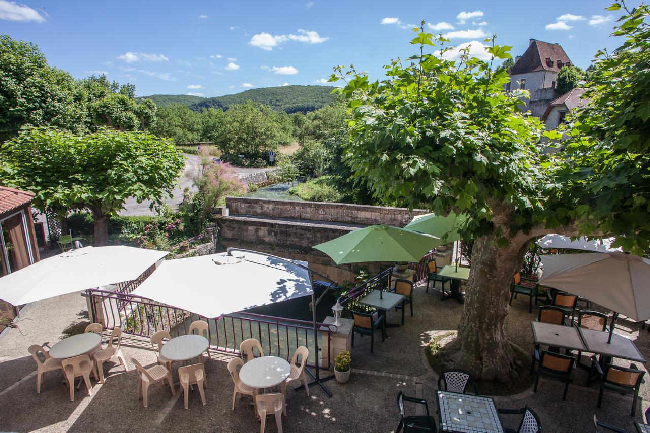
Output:
[[164,261],[131,295],[211,319],[312,292],[309,272],[291,261],[234,251]]

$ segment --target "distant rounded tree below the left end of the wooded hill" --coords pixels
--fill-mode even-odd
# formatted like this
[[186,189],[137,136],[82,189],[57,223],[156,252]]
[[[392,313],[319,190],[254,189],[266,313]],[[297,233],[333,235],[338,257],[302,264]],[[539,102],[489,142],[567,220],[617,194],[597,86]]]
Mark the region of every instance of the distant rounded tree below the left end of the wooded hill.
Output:
[[[144,101],[151,101],[144,99]],[[156,112],[151,132],[158,137],[172,138],[176,144],[201,141],[201,114],[186,105],[166,105]]]

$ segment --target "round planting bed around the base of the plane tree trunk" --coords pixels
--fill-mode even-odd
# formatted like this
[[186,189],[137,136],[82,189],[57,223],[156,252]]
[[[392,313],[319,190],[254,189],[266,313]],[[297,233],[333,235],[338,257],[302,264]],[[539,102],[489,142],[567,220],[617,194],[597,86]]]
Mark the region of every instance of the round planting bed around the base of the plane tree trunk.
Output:
[[[451,365],[447,365],[445,361],[441,360],[441,356],[439,355],[440,342],[452,334],[454,332],[436,335],[426,345],[426,360],[429,361],[429,365],[431,365],[431,368],[434,369],[436,374],[440,374],[445,369],[452,368]],[[512,343],[510,343],[510,347],[512,348],[514,362],[517,366],[515,367],[517,377],[505,383],[493,380],[477,380],[476,386],[478,386],[478,393],[480,395],[514,395],[532,386],[535,376],[534,374],[530,374],[530,355]]]

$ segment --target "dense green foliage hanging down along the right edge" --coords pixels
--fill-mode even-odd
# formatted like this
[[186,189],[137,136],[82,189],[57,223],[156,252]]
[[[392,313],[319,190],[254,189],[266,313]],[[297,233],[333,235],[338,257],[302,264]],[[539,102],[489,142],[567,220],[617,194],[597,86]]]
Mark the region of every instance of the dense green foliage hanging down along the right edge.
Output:
[[[585,98],[591,102],[569,125],[566,163],[558,194],[577,203],[583,233],[619,235],[615,246],[650,250],[650,9],[624,10],[614,29],[625,42],[613,53],[599,51]],[[623,235],[623,236],[621,236]]]

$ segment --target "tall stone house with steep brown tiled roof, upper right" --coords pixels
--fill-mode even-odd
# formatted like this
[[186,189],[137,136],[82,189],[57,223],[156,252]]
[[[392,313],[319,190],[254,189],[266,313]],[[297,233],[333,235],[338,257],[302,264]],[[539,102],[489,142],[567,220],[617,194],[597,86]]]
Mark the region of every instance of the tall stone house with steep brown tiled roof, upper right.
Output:
[[523,101],[533,116],[541,117],[555,99],[555,83],[560,68],[571,66],[560,44],[530,39],[528,48],[515,59],[506,90],[528,90],[530,99]]

